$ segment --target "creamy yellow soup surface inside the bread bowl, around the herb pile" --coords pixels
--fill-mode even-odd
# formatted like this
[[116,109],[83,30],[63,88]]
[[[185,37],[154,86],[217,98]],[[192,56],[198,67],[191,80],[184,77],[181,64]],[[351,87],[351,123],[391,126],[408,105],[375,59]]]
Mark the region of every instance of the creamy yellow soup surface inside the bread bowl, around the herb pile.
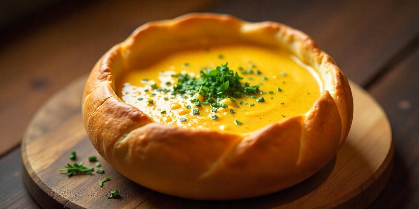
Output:
[[[226,63],[243,77],[242,84],[258,85],[259,91],[207,101],[194,91],[173,90],[182,74],[199,81],[201,70],[208,73]],[[127,72],[119,84],[118,96],[155,122],[235,133],[305,114],[323,91],[316,71],[292,54],[247,45],[179,51],[152,66]]]

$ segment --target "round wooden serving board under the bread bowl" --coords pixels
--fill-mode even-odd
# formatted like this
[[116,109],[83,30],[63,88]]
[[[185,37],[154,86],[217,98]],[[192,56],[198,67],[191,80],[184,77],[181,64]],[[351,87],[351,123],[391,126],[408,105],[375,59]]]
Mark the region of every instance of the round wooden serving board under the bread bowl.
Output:
[[[349,136],[336,156],[318,173],[274,194],[234,201],[198,201],[161,194],[130,181],[98,155],[88,139],[81,116],[86,77],[49,99],[36,113],[22,141],[25,184],[45,208],[365,208],[390,177],[394,144],[388,119],[375,100],[351,83],[354,119]],[[59,172],[72,150],[77,162],[93,166],[98,156],[104,174],[67,177]],[[111,176],[99,187],[98,181]],[[107,199],[119,189],[121,197]]]

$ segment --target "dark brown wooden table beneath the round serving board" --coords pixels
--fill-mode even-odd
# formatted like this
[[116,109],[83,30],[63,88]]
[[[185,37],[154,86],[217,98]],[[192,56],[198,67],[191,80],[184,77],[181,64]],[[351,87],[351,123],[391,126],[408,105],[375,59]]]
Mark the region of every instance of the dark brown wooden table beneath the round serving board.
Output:
[[419,207],[419,3],[412,1],[95,1],[56,6],[1,31],[0,207],[38,208],[19,144],[34,112],[88,73],[137,26],[193,11],[272,20],[305,31],[388,114],[393,173],[371,208]]

